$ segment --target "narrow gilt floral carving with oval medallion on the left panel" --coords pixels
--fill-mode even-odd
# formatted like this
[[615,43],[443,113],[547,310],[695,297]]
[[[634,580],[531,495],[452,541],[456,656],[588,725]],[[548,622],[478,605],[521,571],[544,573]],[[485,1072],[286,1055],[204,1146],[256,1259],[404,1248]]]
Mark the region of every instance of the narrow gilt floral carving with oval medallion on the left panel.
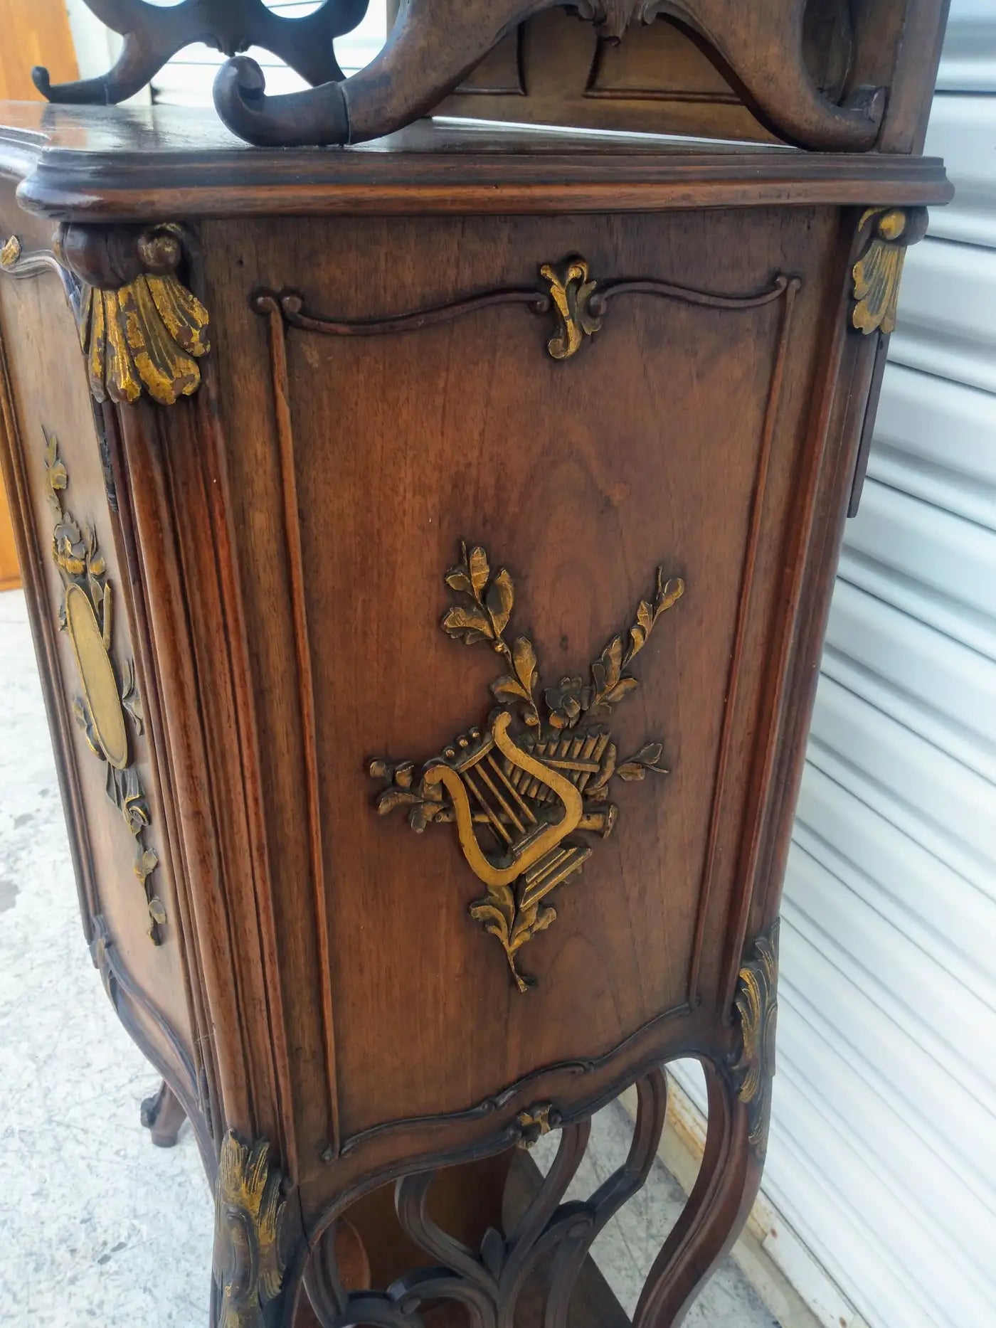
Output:
[[72,643],[82,687],[82,696],[73,701],[73,714],[93,754],[106,762],[108,797],[134,837],[134,872],[149,910],[149,936],[158,946],[166,924],[166,907],[155,894],[151,879],[159,858],[146,838],[149,803],[131,754],[130,730],[135,736],[145,732],[134,663],[129,659],[118,665],[112,655],[114,599],[106,563],[93,526],[80,526],[62,503],[69,474],[58,456],[57,438],[48,433],[45,483],[56,515],[52,558],[62,579],[58,625]]

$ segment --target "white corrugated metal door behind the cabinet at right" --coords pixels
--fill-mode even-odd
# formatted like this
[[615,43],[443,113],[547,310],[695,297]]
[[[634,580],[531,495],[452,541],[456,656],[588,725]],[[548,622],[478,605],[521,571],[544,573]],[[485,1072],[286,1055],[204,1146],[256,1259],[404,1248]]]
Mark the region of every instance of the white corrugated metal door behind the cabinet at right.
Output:
[[[785,886],[765,1191],[871,1328],[996,1323],[996,0],[954,0]],[[837,1320],[834,1320],[837,1324]]]

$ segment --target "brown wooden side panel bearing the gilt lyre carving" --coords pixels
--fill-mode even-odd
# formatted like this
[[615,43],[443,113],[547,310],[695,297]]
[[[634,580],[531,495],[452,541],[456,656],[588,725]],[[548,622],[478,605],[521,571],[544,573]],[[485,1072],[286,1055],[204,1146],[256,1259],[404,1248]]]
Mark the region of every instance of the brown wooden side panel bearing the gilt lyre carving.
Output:
[[292,234],[203,228],[290,1074],[410,1153],[733,1009],[838,214]]

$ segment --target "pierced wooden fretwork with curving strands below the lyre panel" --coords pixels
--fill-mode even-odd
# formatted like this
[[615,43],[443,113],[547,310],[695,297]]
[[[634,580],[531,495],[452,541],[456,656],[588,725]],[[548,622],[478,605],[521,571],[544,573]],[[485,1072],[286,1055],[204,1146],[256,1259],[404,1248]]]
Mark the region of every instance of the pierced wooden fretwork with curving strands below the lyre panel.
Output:
[[[434,1171],[404,1177],[397,1182],[394,1206],[405,1232],[433,1260],[432,1266],[405,1274],[386,1291],[345,1292],[335,1268],[309,1282],[312,1307],[323,1328],[417,1328],[422,1307],[432,1301],[456,1301],[466,1307],[474,1328],[498,1328],[515,1320],[515,1308],[530,1275],[546,1274],[547,1328],[567,1328],[567,1315],[578,1275],[595,1236],[610,1218],[644,1185],[656,1157],[667,1113],[667,1086],[660,1069],[636,1084],[637,1112],[629,1153],[623,1163],[584,1201],[563,1202],[578,1173],[591,1131],[591,1120],[551,1127],[560,1129],[556,1155],[525,1211],[506,1232],[490,1227],[478,1250],[471,1250],[444,1231],[429,1215]],[[527,1114],[538,1114],[531,1109]],[[333,1259],[332,1242],[324,1258]],[[317,1301],[317,1303],[316,1303]]]

